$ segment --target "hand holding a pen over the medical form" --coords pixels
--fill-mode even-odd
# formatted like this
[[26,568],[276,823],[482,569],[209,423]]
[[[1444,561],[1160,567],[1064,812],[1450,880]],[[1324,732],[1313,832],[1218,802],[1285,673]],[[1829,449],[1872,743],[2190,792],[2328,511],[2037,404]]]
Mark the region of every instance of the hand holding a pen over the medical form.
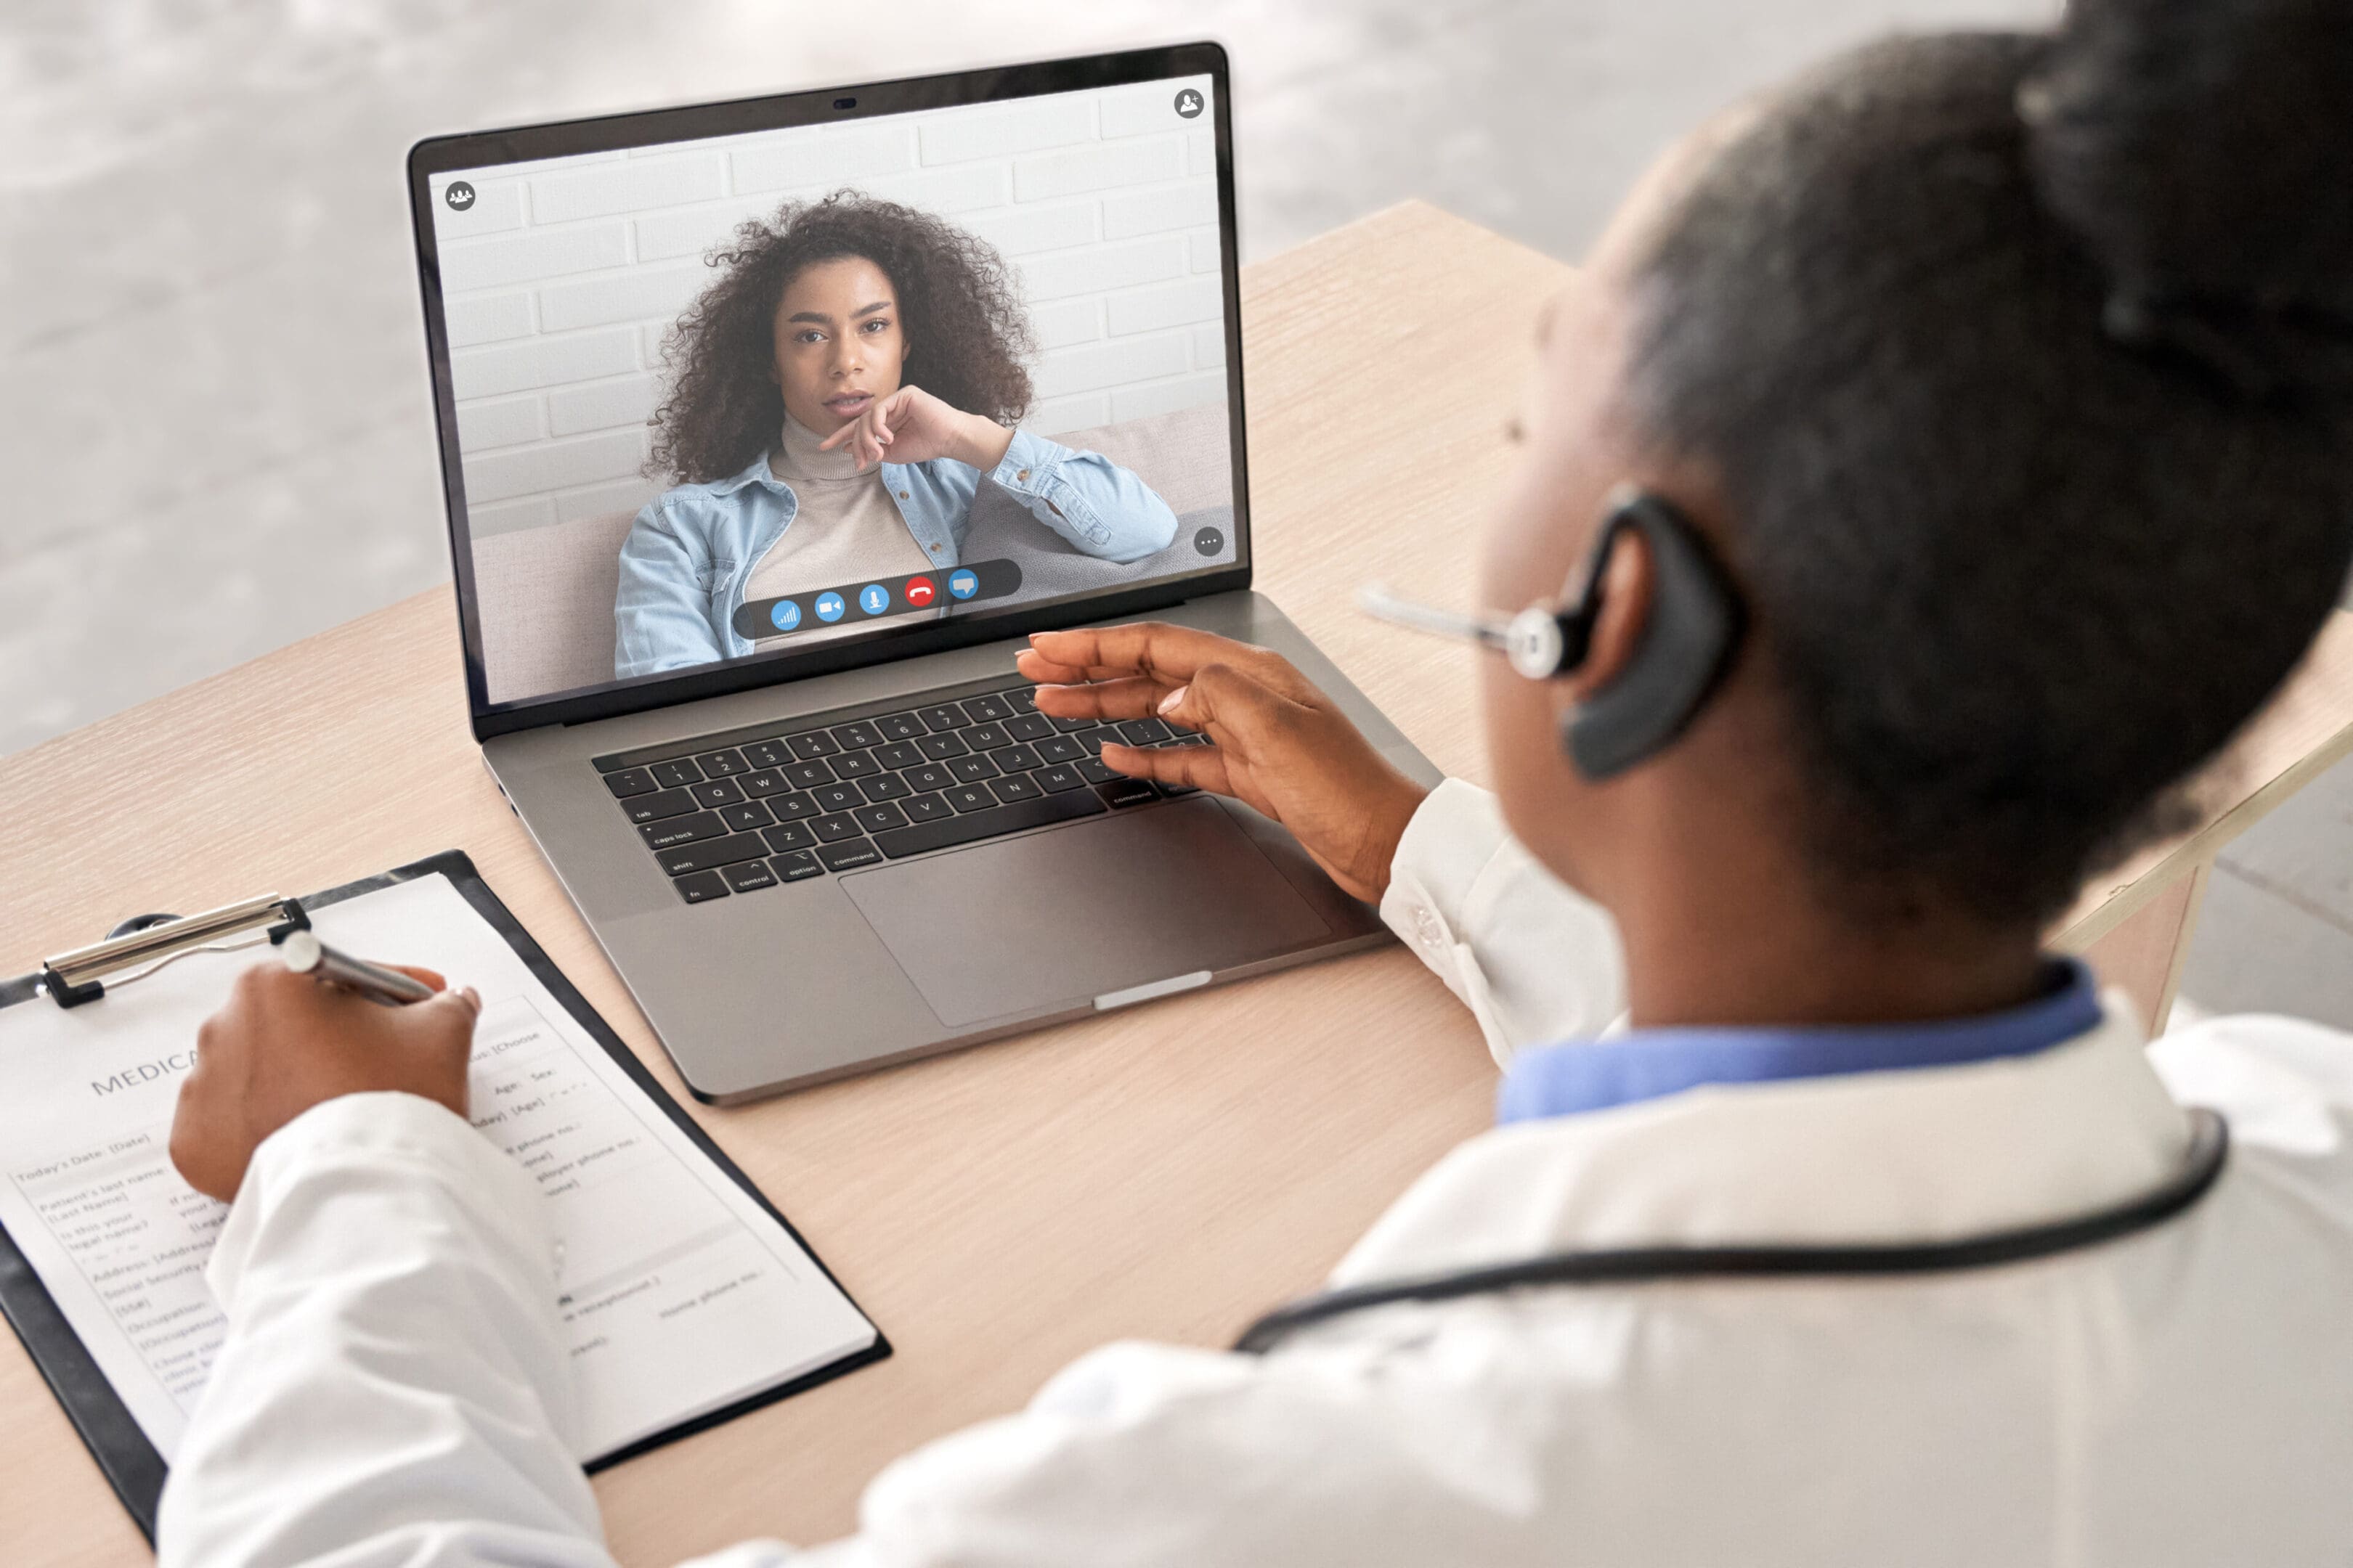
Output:
[[172,1164],[191,1187],[231,1201],[264,1138],[339,1095],[412,1093],[466,1114],[466,1060],[482,999],[447,990],[431,969],[393,969],[440,994],[376,1006],[278,961],[238,976],[228,1001],[195,1032],[195,1067],[172,1117]]

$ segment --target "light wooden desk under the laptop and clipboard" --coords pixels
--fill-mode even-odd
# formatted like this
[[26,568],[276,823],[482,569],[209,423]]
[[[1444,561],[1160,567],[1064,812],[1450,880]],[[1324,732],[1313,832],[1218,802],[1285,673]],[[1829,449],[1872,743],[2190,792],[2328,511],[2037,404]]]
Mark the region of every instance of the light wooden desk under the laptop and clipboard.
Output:
[[[1522,367],[1428,423],[1431,331],[1466,296],[1525,343],[1567,268],[1405,205],[1242,277],[1261,585],[1449,773],[1485,778],[1471,654],[1367,623],[1367,576],[1471,602],[1471,543]],[[1367,465],[1365,451],[1393,463]],[[136,910],[311,891],[473,853],[680,1100],[668,1060],[466,733],[447,590],[0,759],[0,971]],[[2202,867],[2353,748],[2353,618],[2191,842],[2106,879],[2061,940],[2162,992]],[[136,910],[134,910],[136,905]],[[2153,992],[2153,994],[2158,994]],[[854,1523],[906,1448],[1016,1408],[1115,1338],[1226,1342],[1299,1295],[1489,1121],[1471,1018],[1402,950],[1360,954],[744,1110],[696,1107],[899,1354],[598,1476],[614,1549],[671,1563]],[[692,1105],[692,1103],[689,1103]],[[144,1544],[14,1338],[0,1345],[0,1559]]]

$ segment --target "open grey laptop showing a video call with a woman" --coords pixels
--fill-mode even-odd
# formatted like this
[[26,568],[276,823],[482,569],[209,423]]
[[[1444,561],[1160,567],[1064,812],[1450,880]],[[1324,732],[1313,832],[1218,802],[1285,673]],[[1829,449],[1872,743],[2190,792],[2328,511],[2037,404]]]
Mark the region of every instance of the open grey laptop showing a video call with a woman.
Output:
[[1438,780],[1249,585],[1224,49],[440,136],[409,200],[473,733],[696,1095],[1386,940],[1099,759],[1202,736],[1014,670],[1202,628]]

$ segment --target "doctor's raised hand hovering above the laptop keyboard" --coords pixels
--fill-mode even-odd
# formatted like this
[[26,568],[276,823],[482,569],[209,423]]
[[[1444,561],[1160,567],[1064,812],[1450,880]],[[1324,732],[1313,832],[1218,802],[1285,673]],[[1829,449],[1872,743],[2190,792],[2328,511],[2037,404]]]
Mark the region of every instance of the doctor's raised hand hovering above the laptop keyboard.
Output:
[[[1388,863],[1426,790],[1388,764],[1292,661],[1212,632],[1144,621],[1038,632],[1016,661],[1054,719],[1158,715],[1209,745],[1104,745],[1104,766],[1195,785],[1264,811],[1353,898],[1388,889]],[[1085,684],[1080,684],[1085,682]]]

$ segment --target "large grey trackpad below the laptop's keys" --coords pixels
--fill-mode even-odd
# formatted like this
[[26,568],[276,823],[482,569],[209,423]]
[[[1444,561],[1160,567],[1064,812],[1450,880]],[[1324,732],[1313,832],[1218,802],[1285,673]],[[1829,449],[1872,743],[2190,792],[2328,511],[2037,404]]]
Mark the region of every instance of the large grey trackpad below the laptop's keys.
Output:
[[859,872],[842,891],[951,1027],[1329,936],[1212,799]]

